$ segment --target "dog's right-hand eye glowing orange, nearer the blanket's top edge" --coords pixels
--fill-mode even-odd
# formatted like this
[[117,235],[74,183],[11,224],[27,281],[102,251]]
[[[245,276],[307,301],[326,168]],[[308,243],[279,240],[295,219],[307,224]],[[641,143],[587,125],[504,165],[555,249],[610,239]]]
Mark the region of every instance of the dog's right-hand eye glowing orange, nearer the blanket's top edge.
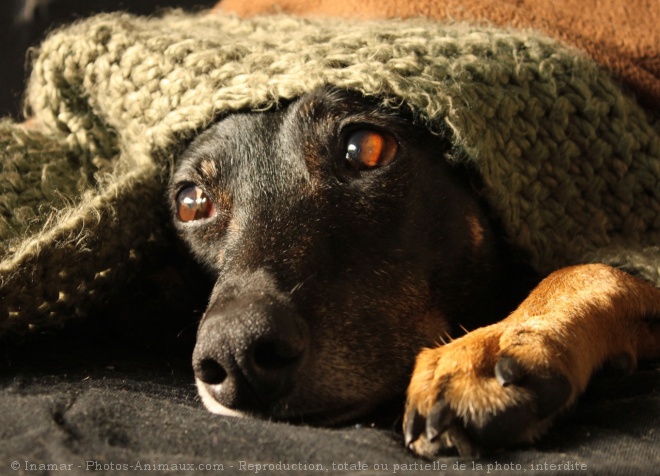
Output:
[[357,169],[373,169],[394,161],[398,146],[387,134],[361,129],[353,132],[346,143],[346,160]]

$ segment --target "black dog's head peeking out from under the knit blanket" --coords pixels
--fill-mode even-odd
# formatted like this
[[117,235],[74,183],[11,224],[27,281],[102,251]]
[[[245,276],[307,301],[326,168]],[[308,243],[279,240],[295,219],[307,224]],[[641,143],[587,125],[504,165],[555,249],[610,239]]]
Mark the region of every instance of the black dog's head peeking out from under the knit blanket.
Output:
[[356,417],[404,394],[449,320],[480,312],[469,296],[494,268],[490,229],[447,150],[325,90],[230,115],[192,143],[171,199],[217,276],[193,358],[211,411]]

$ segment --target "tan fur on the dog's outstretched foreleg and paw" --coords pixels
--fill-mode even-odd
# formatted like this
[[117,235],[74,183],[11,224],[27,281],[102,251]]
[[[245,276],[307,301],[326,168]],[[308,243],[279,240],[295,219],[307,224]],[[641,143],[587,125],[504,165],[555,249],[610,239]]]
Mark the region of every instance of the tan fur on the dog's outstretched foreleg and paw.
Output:
[[[660,289],[609,266],[564,268],[551,274],[507,319],[451,343],[422,351],[408,389],[408,407],[428,415],[438,396],[464,419],[479,422],[532,398],[523,387],[500,385],[494,367],[506,354],[532,375],[561,373],[572,393],[584,391],[595,370],[627,353],[660,355],[660,335],[644,319],[660,315]],[[528,428],[532,441],[551,418]]]

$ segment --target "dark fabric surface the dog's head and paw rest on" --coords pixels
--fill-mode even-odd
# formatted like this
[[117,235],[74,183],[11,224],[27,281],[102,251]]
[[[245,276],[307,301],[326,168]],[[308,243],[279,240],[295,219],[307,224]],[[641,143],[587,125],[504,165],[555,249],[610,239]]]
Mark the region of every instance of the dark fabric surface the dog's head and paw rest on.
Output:
[[[224,474],[318,474],[310,465],[330,474],[438,473],[423,464],[446,465],[445,474],[658,474],[657,364],[595,381],[533,448],[480,459],[450,455],[434,463],[404,449],[400,420],[312,428],[209,414],[196,396],[189,363],[194,319],[156,327],[166,319],[145,319],[151,332],[82,324],[66,334],[5,345],[0,474],[137,474],[155,465],[164,465],[157,474],[189,474],[188,465],[209,472],[222,465]],[[12,471],[14,462],[19,471]],[[358,463],[367,470],[356,471]],[[68,466],[48,471],[40,464]],[[259,464],[275,466],[249,466]]]

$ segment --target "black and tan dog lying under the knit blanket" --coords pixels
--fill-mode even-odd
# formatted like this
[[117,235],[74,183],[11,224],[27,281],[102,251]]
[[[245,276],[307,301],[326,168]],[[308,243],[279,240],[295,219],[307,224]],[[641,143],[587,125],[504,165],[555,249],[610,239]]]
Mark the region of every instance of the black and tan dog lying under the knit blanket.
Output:
[[537,275],[451,147],[337,89],[192,141],[169,195],[216,280],[193,355],[211,412],[336,425],[406,399],[415,453],[474,455],[660,356],[660,289],[602,263]]

